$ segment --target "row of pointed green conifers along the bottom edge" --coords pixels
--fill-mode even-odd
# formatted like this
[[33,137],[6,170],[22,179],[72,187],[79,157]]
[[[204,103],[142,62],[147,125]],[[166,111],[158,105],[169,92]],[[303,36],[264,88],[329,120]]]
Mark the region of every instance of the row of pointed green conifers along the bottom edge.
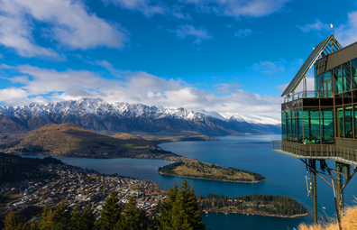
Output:
[[93,208],[74,207],[70,209],[64,203],[57,208],[44,207],[41,215],[31,221],[26,220],[21,212],[11,211],[5,217],[4,230],[205,230],[197,207],[197,198],[186,179],[178,188],[176,184],[169,189],[168,198],[158,205],[153,216],[136,207],[133,197],[125,206],[118,204],[119,198],[112,192],[105,200],[99,218],[93,214]]

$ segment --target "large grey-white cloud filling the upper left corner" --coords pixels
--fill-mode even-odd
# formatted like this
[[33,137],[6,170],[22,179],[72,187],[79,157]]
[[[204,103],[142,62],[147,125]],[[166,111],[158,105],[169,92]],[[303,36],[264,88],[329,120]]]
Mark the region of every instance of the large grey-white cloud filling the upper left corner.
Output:
[[[41,24],[41,29],[35,23]],[[98,46],[120,49],[129,42],[129,32],[87,11],[80,1],[1,0],[0,43],[23,57],[62,58],[50,48],[43,48],[33,36],[54,41],[69,50],[95,49]]]

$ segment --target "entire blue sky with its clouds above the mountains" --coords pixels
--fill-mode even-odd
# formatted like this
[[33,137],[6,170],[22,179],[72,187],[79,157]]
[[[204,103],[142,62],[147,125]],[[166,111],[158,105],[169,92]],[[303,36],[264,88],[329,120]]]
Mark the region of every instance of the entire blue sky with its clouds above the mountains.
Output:
[[0,0],[0,106],[101,97],[279,119],[330,23],[357,41],[357,2]]

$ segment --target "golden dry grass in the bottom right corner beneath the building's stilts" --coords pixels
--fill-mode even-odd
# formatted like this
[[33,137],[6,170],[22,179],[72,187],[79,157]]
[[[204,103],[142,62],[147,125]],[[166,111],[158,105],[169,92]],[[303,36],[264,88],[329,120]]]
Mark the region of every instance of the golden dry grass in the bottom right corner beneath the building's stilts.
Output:
[[[347,207],[344,209],[344,214],[341,219],[343,230],[357,229],[357,207]],[[337,219],[328,219],[322,225],[306,225],[301,224],[298,230],[339,230]]]

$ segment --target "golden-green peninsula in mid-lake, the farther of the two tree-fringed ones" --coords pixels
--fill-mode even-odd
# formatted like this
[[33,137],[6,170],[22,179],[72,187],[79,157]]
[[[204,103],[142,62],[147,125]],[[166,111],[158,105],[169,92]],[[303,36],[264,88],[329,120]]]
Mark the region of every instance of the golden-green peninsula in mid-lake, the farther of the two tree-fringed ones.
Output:
[[159,168],[159,173],[185,178],[224,180],[232,182],[260,182],[264,179],[261,174],[238,170],[232,167],[224,168],[216,164],[202,161],[178,161]]

